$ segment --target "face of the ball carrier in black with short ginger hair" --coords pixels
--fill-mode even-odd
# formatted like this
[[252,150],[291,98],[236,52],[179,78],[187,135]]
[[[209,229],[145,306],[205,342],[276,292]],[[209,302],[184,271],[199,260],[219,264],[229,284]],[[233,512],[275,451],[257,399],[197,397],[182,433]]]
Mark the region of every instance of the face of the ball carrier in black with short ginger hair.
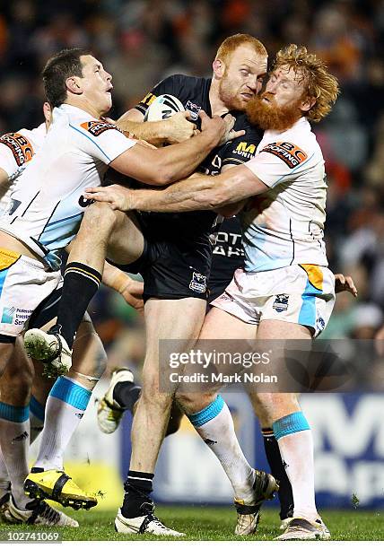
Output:
[[267,57],[255,53],[247,45],[239,46],[225,65],[219,96],[227,109],[245,110],[263,85]]

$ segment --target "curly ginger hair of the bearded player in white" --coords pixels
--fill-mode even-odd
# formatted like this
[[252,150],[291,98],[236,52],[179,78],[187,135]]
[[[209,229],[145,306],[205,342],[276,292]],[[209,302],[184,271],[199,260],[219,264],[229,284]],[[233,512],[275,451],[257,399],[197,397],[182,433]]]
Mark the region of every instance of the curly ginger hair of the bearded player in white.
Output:
[[284,65],[292,67],[295,74],[302,75],[306,84],[303,98],[316,100],[306,117],[319,122],[330,112],[340,92],[336,76],[328,72],[327,65],[319,57],[308,53],[305,46],[296,44],[277,52],[273,70]]

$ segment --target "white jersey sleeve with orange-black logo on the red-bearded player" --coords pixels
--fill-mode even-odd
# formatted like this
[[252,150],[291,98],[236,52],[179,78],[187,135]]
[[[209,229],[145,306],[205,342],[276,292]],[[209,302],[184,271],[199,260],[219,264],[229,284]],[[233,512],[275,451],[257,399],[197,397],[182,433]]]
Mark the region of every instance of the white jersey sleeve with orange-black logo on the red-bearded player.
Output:
[[257,155],[245,165],[267,187],[289,182],[306,170],[310,153],[292,142],[264,144]]

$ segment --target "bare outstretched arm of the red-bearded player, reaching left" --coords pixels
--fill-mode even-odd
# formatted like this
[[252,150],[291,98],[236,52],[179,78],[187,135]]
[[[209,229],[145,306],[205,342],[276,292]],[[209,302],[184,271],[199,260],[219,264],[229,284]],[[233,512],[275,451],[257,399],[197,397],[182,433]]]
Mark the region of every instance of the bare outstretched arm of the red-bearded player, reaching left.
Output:
[[267,189],[248,168],[236,166],[215,177],[201,175],[179,181],[165,189],[131,190],[112,185],[88,189],[85,196],[109,202],[122,211],[189,212],[217,210]]

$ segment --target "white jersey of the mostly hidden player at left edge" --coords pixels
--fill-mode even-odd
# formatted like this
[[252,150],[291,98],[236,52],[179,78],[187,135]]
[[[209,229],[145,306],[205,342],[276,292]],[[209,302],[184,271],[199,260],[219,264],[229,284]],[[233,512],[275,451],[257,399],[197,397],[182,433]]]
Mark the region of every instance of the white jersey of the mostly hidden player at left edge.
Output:
[[4,134],[0,137],[0,168],[8,174],[12,181],[10,187],[0,199],[0,215],[9,205],[9,199],[13,192],[14,179],[16,179],[27,163],[39,151],[41,144],[47,135],[45,123],[32,130],[22,128],[12,134]]

